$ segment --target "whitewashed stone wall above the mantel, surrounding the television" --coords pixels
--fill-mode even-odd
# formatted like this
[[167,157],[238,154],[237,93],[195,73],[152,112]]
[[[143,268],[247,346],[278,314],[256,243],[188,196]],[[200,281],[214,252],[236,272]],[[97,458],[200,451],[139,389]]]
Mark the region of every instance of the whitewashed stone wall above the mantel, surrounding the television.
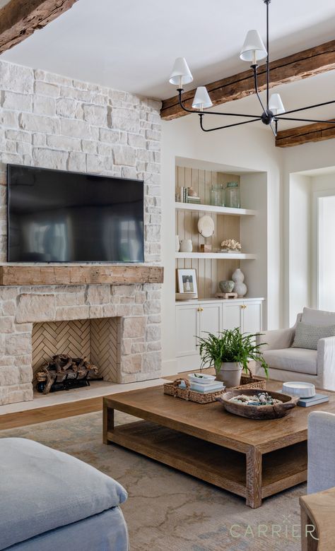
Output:
[[160,102],[0,62],[0,261],[6,164],[145,182],[145,261],[160,261]]

